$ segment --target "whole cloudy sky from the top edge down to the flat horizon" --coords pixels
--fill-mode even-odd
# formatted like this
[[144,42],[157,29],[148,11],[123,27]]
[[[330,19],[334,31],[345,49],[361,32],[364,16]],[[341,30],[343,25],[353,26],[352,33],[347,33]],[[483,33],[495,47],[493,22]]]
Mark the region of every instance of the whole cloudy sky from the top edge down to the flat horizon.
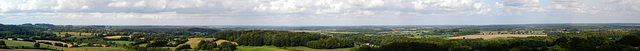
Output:
[[0,23],[279,26],[640,23],[640,0],[0,0]]

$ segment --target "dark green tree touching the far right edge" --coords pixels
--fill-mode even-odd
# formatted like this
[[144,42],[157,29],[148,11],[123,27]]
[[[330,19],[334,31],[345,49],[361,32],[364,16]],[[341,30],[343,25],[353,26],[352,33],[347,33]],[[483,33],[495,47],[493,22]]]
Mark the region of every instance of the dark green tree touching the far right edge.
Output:
[[631,46],[640,46],[640,37],[638,35],[625,35],[617,43]]

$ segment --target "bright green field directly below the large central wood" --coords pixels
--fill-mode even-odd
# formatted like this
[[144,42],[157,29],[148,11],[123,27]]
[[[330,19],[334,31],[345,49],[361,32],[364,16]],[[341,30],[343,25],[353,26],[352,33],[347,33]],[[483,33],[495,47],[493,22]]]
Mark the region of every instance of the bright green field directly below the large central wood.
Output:
[[236,51],[292,51],[276,46],[238,46]]

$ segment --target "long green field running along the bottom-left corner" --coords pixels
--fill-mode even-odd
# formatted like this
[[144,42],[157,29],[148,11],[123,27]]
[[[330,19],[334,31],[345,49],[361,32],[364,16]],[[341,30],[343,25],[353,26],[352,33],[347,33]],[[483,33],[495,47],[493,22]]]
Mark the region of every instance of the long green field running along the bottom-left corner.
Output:
[[[5,41],[7,46],[33,46],[33,44],[35,44],[35,42],[27,42],[27,41],[12,41],[12,40],[5,40],[5,39],[2,39],[2,41]],[[119,48],[119,47],[71,47],[71,48],[68,48],[68,47],[58,47],[58,46],[48,45],[44,43],[41,43],[40,47],[48,47],[51,49],[58,49],[63,51],[127,51],[127,49]]]

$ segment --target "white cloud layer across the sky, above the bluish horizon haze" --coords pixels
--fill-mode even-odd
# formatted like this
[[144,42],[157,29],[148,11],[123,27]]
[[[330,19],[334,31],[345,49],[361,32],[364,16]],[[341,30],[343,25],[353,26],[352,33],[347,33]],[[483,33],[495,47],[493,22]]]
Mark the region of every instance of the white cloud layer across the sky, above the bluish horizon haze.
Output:
[[411,22],[416,20],[411,18],[535,17],[539,13],[633,17],[640,16],[638,4],[640,0],[0,0],[0,18],[47,13],[45,16],[73,20]]

